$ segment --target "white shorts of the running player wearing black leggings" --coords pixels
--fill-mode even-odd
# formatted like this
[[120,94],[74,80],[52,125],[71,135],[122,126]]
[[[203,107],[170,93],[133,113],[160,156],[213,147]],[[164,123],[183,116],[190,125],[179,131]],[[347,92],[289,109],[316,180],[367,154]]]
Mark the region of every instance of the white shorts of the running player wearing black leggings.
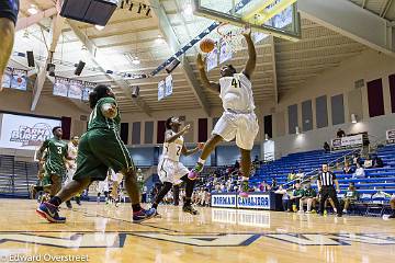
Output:
[[161,159],[158,164],[158,175],[162,183],[180,184],[180,179],[189,172],[184,164],[169,159]]

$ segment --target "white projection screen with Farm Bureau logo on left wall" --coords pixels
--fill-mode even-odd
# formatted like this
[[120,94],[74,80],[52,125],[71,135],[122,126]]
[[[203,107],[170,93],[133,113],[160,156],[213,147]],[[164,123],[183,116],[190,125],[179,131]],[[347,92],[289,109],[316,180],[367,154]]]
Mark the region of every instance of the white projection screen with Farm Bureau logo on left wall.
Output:
[[52,129],[61,126],[60,119],[3,114],[0,147],[35,150],[53,137]]

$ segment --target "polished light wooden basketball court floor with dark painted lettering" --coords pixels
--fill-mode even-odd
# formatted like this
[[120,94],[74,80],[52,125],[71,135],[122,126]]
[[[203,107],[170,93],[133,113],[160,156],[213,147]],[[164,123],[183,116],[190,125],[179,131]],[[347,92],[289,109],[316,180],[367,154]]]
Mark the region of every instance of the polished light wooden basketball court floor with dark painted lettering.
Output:
[[201,214],[193,217],[181,207],[161,206],[162,218],[136,225],[128,204],[82,203],[72,210],[63,208],[67,224],[55,225],[36,216],[34,201],[0,202],[0,262],[395,260],[395,220],[381,218],[224,208],[199,208]]

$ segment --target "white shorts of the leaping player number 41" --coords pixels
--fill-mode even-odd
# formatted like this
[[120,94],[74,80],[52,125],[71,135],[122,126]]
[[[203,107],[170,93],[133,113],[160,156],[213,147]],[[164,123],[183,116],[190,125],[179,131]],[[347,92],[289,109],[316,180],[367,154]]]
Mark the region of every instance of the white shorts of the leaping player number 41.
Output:
[[237,147],[251,150],[258,132],[259,125],[255,113],[244,114],[226,111],[216,123],[212,135],[219,135],[226,141],[236,137]]

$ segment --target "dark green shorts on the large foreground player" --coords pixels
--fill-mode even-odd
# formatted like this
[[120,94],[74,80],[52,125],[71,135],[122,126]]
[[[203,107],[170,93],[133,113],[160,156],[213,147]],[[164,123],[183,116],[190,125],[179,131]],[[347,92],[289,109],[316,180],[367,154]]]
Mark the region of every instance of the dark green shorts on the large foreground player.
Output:
[[121,137],[111,129],[92,129],[82,135],[78,145],[77,171],[74,180],[90,178],[103,181],[109,168],[115,172],[134,169],[134,163]]

